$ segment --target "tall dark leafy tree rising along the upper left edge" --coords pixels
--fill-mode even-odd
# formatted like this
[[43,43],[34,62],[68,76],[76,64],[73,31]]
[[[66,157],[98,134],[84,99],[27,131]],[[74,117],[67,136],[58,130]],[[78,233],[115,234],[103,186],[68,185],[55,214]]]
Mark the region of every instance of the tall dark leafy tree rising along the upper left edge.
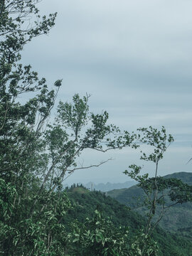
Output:
[[[43,148],[43,144],[36,146],[36,143],[60,85],[58,80],[55,90],[48,91],[45,78],[40,80],[31,65],[19,63],[23,46],[32,38],[48,33],[54,25],[56,14],[41,19],[37,3],[36,0],[7,0],[0,4],[0,171],[7,182],[15,181],[19,170],[23,173],[24,168],[28,169],[30,163],[29,159],[25,161],[26,156],[31,154],[33,161],[33,157],[37,157],[35,151],[40,152]],[[29,99],[27,92],[38,93]],[[26,95],[23,105],[18,100],[21,95]],[[10,169],[12,171],[7,171]]]

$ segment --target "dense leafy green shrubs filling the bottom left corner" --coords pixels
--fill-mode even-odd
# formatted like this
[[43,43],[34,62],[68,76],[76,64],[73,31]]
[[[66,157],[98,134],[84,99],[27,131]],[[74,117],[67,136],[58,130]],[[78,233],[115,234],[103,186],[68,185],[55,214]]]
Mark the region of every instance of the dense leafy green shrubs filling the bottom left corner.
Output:
[[58,248],[65,248],[66,243],[65,227],[61,220],[70,208],[65,193],[48,194],[47,191],[42,191],[33,216],[30,217],[30,206],[36,198],[35,191],[29,189],[29,197],[20,198],[19,202],[16,188],[2,179],[0,181],[1,253],[4,252],[4,255],[60,254]]

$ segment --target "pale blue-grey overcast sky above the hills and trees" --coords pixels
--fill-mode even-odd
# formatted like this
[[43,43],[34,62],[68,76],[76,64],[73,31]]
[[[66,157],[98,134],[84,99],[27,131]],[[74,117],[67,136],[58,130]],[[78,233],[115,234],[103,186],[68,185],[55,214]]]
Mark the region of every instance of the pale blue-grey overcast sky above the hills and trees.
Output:
[[[23,50],[50,87],[63,79],[58,101],[75,93],[91,95],[90,110],[107,110],[110,122],[129,132],[139,127],[166,127],[175,142],[159,164],[159,175],[191,172],[192,161],[192,2],[189,0],[44,0],[41,14],[58,12],[48,36],[33,39]],[[149,151],[146,148],[146,151]],[[98,168],[77,170],[66,183],[124,182],[133,149],[99,154],[85,151],[78,164]]]

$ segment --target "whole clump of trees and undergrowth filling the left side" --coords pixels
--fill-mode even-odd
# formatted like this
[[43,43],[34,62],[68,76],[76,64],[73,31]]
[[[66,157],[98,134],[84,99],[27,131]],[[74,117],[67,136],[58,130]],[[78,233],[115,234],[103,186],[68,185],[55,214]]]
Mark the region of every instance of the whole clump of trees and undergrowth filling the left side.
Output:
[[[40,16],[37,0],[0,3],[0,251],[4,255],[66,255],[62,220],[71,207],[62,190],[66,174],[84,149],[107,151],[134,145],[134,134],[107,124],[108,114],[92,114],[88,96],[58,105],[48,121],[61,85],[49,90],[21,50],[46,34],[56,14]],[[25,95],[23,103],[19,97]],[[102,163],[97,163],[99,166]]]

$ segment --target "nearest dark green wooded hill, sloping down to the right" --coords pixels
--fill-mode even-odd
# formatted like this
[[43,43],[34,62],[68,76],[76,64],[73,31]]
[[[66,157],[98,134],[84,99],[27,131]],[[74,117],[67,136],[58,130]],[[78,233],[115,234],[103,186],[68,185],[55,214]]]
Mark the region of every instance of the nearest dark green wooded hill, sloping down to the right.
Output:
[[[65,218],[66,225],[73,220],[84,223],[87,217],[92,218],[96,208],[102,211],[106,218],[111,217],[114,225],[129,226],[132,236],[146,225],[146,220],[139,213],[129,210],[127,206],[106,196],[105,193],[90,192],[81,187],[69,190],[68,196],[73,203],[73,210],[70,210]],[[158,227],[154,230],[154,239],[159,245],[159,256],[192,255],[192,242],[187,238],[182,239],[177,235],[171,235]]]

